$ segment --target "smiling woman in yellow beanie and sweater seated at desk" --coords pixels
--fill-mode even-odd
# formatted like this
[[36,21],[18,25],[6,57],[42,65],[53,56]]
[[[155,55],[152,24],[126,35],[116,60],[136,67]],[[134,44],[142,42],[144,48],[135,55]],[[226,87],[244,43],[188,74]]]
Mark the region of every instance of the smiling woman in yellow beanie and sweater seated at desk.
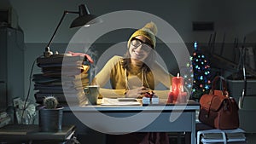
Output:
[[[93,84],[100,85],[103,97],[141,97],[152,92],[158,84],[167,90],[154,90],[154,95],[167,98],[172,82],[169,74],[155,61],[155,35],[157,27],[149,22],[134,32],[128,40],[124,57],[113,56],[94,78]],[[110,80],[112,89],[103,89]],[[166,133],[131,133],[128,135],[108,135],[108,143],[169,144]]]

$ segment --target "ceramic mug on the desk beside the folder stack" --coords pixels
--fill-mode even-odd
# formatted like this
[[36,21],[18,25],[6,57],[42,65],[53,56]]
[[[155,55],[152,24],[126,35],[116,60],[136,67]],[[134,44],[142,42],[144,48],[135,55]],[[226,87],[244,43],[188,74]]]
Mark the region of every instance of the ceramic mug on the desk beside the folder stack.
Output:
[[99,97],[99,86],[98,85],[88,85],[84,88],[84,94],[87,97],[88,104],[96,105]]

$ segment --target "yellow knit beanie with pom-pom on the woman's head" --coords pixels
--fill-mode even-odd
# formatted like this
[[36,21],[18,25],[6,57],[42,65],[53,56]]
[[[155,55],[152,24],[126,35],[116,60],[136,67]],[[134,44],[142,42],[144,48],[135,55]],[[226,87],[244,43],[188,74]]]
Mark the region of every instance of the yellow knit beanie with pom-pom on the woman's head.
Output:
[[148,22],[148,24],[146,24],[143,28],[137,30],[136,32],[134,32],[131,37],[129,38],[129,41],[127,43],[127,47],[129,48],[130,43],[131,43],[131,39],[133,37],[137,37],[137,36],[143,36],[148,38],[148,40],[152,43],[153,45],[153,49],[155,48],[155,35],[157,33],[157,26],[154,24],[154,22]]

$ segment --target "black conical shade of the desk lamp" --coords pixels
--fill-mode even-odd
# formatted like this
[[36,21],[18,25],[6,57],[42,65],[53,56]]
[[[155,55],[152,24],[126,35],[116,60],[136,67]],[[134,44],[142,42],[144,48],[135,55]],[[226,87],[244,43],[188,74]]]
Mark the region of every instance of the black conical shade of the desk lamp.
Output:
[[90,26],[95,23],[100,23],[102,20],[96,18],[96,15],[90,14],[89,9],[86,5],[79,5],[79,17],[73,20],[70,25],[70,28],[79,27],[79,26]]

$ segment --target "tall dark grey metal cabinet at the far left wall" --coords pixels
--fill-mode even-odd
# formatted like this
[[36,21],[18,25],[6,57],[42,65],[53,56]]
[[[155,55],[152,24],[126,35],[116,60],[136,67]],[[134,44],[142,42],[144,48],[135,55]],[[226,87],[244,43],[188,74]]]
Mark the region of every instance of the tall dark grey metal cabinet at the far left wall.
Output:
[[24,35],[21,30],[0,27],[0,111],[24,97]]

